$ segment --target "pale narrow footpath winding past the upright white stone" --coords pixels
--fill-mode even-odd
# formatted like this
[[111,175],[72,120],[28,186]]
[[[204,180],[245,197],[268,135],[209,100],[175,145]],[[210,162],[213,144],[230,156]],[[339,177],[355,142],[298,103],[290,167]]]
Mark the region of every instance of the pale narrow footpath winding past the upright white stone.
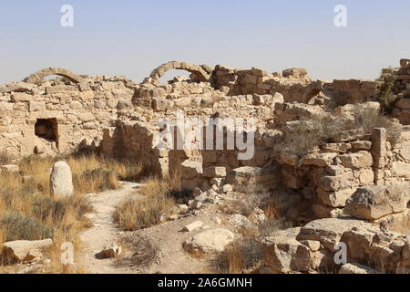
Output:
[[94,213],[87,214],[87,217],[93,226],[80,235],[84,244],[82,259],[87,273],[133,273],[132,270],[127,267],[115,266],[115,262],[112,259],[97,259],[96,255],[101,252],[104,245],[108,245],[118,239],[120,230],[118,224],[113,221],[112,214],[118,203],[128,197],[139,196],[139,186],[139,183],[124,182],[121,183],[119,190],[89,195],[89,201],[94,208]]

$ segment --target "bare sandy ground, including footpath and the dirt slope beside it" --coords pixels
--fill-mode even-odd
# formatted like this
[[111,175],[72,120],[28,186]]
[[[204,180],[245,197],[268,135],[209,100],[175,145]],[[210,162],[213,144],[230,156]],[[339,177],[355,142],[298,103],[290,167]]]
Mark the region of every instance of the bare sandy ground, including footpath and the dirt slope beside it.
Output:
[[[148,274],[170,273],[190,274],[206,273],[209,270],[209,259],[198,258],[186,253],[182,249],[182,243],[206,228],[218,226],[211,221],[210,213],[189,215],[178,221],[168,222],[153,226],[137,232],[123,232],[112,219],[116,205],[128,197],[138,200],[138,183],[122,183],[119,190],[104,193],[90,194],[90,202],[94,207],[94,213],[87,214],[93,226],[81,234],[84,243],[83,265],[90,274]],[[191,233],[182,232],[186,224],[202,221],[203,227]],[[131,255],[135,253],[133,246],[124,245],[123,255],[115,259],[97,259],[96,255],[102,251],[104,245],[120,242],[121,238],[142,237],[158,250],[157,255],[152,257],[149,266],[135,266],[130,264]],[[138,246],[135,246],[138,250]]]

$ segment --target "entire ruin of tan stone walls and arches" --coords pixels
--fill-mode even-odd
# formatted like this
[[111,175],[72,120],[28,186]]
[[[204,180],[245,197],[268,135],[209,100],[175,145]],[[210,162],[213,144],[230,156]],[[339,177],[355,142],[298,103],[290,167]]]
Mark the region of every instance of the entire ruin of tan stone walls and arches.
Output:
[[[190,78],[161,83],[170,69]],[[52,75],[59,78],[45,79]],[[388,111],[386,96],[394,100]],[[179,118],[216,124],[182,130],[159,124]],[[224,118],[254,120],[254,128],[245,127],[253,137],[250,159],[239,160],[244,149],[226,142],[239,133],[219,123]],[[158,147],[166,133],[174,139],[210,127],[223,137],[220,147],[216,141],[197,149]],[[377,80],[313,80],[303,68],[281,74],[176,61],[142,83],[46,68],[0,88],[0,137],[0,151],[16,157],[87,150],[149,163],[160,177],[178,174],[181,186],[201,198],[197,209],[218,193],[285,190],[277,199],[295,227],[263,238],[260,272],[318,270],[333,261],[340,241],[351,263],[343,272],[363,271],[369,256],[388,263],[388,271],[410,271],[408,59]],[[218,250],[233,238],[223,229],[208,233],[223,237]],[[184,248],[211,249],[202,237]]]

